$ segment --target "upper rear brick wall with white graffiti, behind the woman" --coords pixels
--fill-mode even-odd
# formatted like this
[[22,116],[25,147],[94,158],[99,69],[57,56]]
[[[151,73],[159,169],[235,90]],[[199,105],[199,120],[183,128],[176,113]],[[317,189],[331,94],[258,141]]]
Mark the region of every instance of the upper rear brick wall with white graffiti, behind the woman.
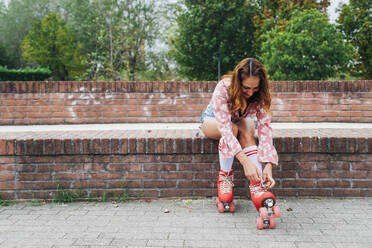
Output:
[[[371,122],[371,80],[273,81],[273,122]],[[0,82],[0,125],[199,122],[216,82]]]

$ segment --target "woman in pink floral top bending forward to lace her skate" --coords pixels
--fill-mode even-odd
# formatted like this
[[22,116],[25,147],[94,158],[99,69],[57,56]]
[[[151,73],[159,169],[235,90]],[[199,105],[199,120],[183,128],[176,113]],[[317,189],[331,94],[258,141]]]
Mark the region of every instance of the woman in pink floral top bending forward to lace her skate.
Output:
[[[202,115],[200,128],[207,138],[219,140],[217,188],[221,202],[233,200],[231,168],[234,157],[243,166],[251,193],[252,185],[264,185],[267,189],[274,187],[272,167],[278,164],[278,155],[273,146],[270,105],[267,72],[257,59],[242,60],[231,75],[218,82]],[[254,116],[257,123],[252,119]],[[258,147],[254,138],[255,127]]]

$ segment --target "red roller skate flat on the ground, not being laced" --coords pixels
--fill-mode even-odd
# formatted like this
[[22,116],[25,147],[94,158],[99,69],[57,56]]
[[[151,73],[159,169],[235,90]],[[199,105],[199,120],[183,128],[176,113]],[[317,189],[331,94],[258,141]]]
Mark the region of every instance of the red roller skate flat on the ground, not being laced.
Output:
[[218,174],[216,207],[218,212],[223,213],[229,211],[235,212],[235,204],[233,202],[233,186],[234,186],[233,171],[225,172],[220,170]]

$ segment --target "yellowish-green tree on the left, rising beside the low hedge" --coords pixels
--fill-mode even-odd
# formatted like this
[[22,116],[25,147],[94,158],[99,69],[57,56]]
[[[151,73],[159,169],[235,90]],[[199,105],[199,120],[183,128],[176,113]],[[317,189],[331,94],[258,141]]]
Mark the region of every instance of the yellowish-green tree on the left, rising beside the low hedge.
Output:
[[77,76],[82,70],[81,45],[54,12],[32,26],[21,48],[25,60],[49,67],[54,79],[66,80]]

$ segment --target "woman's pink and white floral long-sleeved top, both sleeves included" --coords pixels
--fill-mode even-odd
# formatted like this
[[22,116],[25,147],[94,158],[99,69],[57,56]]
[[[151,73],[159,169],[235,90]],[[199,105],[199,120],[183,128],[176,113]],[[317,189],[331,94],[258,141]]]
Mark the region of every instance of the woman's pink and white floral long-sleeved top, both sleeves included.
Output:
[[222,137],[219,142],[219,150],[223,158],[234,157],[238,152],[242,151],[242,147],[238,139],[233,135],[231,117],[241,120],[247,116],[257,116],[257,131],[258,131],[258,161],[261,163],[278,164],[278,154],[273,146],[272,128],[270,126],[270,115],[258,103],[251,103],[243,116],[239,116],[239,111],[230,111],[231,103],[228,102],[229,92],[228,87],[230,79],[222,79],[216,86],[211,103],[213,112],[217,120],[217,126]]

